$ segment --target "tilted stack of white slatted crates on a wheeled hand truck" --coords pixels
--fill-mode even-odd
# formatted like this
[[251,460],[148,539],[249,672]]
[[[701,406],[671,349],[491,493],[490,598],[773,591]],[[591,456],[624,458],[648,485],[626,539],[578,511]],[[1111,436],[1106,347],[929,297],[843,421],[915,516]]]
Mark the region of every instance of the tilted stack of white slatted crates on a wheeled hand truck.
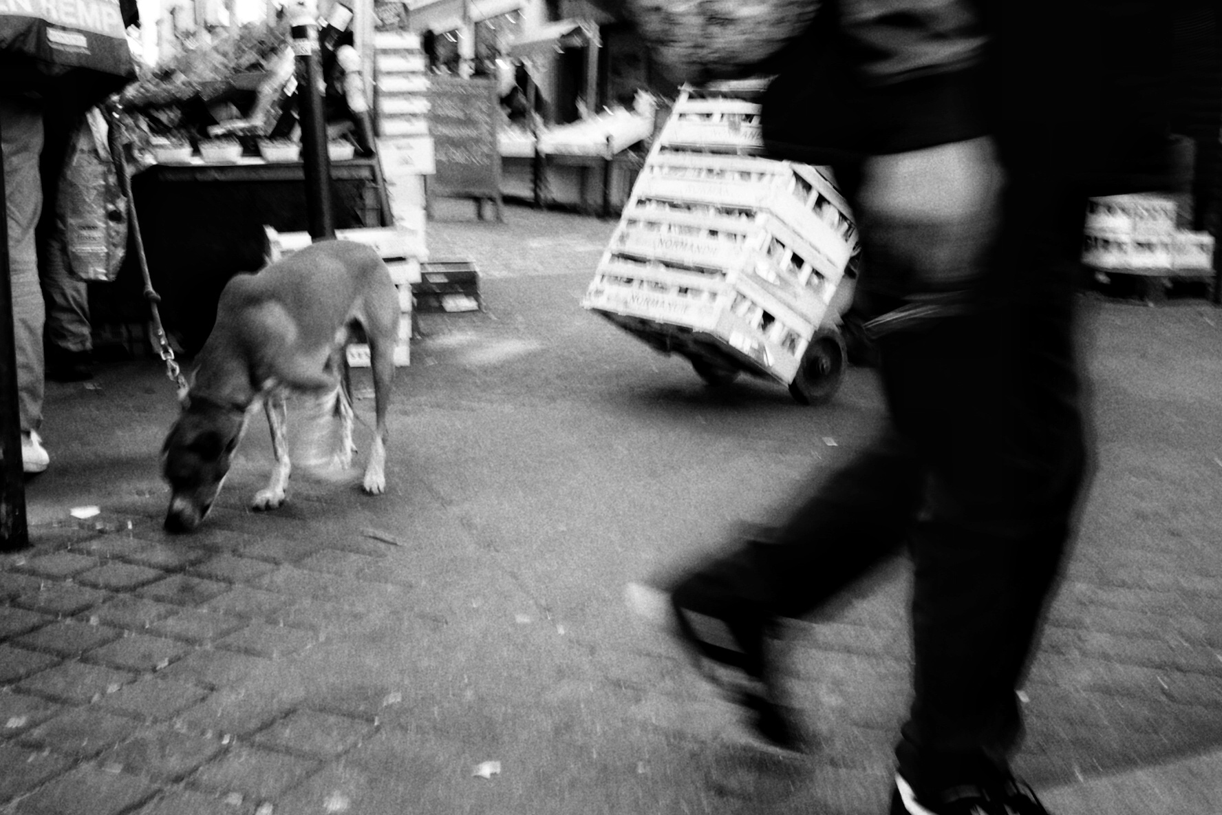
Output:
[[684,88],[582,304],[710,384],[747,371],[824,402],[857,230],[825,169],[759,155],[758,117],[750,94]]

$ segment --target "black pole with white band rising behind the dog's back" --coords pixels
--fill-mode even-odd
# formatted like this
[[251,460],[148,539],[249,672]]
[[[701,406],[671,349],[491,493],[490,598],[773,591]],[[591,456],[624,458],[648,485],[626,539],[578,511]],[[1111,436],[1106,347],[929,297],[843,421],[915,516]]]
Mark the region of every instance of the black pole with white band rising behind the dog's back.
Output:
[[318,23],[308,11],[292,21],[293,54],[297,55],[297,120],[302,127],[302,160],[306,164],[306,214],[315,241],[335,237],[331,214],[331,160],[326,154],[326,122],[319,86],[323,68],[318,54]]

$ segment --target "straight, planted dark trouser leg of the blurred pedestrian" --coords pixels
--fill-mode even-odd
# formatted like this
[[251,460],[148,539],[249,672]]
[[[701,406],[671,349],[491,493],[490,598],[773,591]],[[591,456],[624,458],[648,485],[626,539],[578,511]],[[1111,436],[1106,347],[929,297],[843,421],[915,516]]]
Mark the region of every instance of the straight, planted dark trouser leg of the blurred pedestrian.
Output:
[[986,310],[882,348],[897,425],[931,467],[910,544],[914,700],[896,750],[918,791],[1007,771],[1015,685],[1085,472],[1072,351],[1084,208],[1051,185],[1012,187]]

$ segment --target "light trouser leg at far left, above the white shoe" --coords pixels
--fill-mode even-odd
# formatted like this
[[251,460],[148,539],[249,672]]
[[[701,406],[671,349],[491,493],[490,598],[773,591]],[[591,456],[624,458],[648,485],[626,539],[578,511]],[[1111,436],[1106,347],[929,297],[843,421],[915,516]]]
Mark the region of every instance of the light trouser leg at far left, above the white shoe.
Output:
[[38,281],[34,228],[43,208],[38,167],[43,114],[38,104],[0,98],[5,213],[9,219],[9,275],[17,351],[17,408],[22,431],[43,420],[43,292]]

